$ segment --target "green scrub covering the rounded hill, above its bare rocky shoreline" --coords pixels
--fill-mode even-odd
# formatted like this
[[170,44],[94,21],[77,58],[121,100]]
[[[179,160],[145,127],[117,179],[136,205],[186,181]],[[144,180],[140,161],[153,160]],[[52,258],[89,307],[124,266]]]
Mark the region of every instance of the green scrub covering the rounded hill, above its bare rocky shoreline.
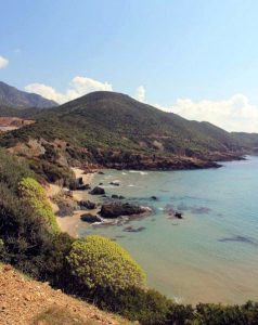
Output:
[[241,147],[230,133],[210,123],[189,121],[114,92],[94,92],[30,118],[37,122],[4,134],[2,144],[62,139],[80,147],[180,155]]

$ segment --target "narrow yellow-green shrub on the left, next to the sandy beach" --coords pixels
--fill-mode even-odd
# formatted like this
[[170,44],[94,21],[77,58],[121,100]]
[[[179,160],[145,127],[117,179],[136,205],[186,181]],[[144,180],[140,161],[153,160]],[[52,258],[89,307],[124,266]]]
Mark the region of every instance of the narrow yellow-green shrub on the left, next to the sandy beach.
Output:
[[18,191],[24,204],[31,207],[34,212],[47,222],[50,231],[57,233],[60,230],[56,218],[42,186],[33,178],[24,178],[18,184]]

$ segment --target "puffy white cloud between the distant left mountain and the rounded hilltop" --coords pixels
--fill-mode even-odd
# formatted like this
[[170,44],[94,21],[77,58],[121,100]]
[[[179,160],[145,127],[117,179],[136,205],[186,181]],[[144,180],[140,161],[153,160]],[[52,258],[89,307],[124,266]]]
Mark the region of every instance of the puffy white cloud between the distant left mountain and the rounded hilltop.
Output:
[[25,90],[28,92],[40,94],[48,100],[52,100],[60,104],[63,104],[92,91],[113,91],[113,88],[108,82],[101,82],[91,78],[76,76],[70,81],[69,87],[65,92],[59,92],[51,86],[38,82],[27,84],[25,87]]

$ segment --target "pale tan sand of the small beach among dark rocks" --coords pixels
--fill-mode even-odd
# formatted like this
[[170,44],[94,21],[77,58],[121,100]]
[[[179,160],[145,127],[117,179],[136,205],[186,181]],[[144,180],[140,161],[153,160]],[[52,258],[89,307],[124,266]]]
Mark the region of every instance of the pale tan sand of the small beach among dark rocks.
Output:
[[[82,169],[79,168],[72,168],[72,170],[75,172],[76,178],[82,178],[85,184],[91,184],[94,172],[91,173],[85,173]],[[53,202],[53,197],[62,193],[63,188],[60,185],[56,184],[49,184],[47,188],[47,195],[50,199],[50,204],[52,206],[52,209],[56,213],[59,211],[59,206]],[[73,198],[75,200],[82,200],[82,199],[89,199],[88,192],[86,191],[73,191]],[[59,217],[56,216],[56,220],[59,223],[59,226],[63,232],[68,233],[73,237],[78,237],[78,226],[80,221],[80,216],[83,214],[86,211],[82,210],[76,210],[74,211],[73,216],[65,216],[65,217]],[[94,213],[94,210],[92,210]]]

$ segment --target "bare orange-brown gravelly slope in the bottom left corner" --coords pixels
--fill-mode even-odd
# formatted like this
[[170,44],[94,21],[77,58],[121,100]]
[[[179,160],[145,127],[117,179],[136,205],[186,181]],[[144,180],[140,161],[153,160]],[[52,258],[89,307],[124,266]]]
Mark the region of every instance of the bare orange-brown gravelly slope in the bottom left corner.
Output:
[[29,280],[10,265],[0,265],[1,325],[130,324],[52,289],[48,283]]

